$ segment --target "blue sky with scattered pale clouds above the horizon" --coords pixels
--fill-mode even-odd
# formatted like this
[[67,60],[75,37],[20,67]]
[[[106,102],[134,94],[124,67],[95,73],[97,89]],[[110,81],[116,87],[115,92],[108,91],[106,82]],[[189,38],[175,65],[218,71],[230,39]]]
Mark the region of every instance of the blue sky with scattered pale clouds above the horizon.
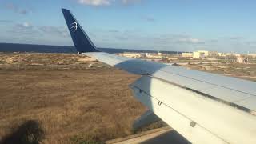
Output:
[[0,42],[74,46],[61,8],[98,47],[256,53],[255,0],[1,0]]

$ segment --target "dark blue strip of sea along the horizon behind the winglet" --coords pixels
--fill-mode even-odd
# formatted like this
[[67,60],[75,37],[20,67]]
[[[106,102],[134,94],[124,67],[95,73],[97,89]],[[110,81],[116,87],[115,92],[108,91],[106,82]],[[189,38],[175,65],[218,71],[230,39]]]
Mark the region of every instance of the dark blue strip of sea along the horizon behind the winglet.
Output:
[[[158,50],[135,50],[135,49],[114,49],[114,48],[98,48],[103,52],[115,54],[123,52],[134,53],[164,53],[164,54],[181,54],[177,51],[158,51]],[[49,45],[31,45],[18,43],[0,43],[0,52],[2,53],[67,53],[75,54],[77,51],[74,46],[49,46]]]

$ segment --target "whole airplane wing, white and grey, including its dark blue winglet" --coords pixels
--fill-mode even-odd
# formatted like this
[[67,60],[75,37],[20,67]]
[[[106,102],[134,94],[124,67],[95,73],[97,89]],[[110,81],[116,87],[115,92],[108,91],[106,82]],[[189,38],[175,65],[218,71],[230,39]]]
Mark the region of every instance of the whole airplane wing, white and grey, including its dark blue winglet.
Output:
[[70,10],[62,12],[78,52],[142,75],[130,85],[134,97],[190,142],[256,143],[256,82],[101,52]]

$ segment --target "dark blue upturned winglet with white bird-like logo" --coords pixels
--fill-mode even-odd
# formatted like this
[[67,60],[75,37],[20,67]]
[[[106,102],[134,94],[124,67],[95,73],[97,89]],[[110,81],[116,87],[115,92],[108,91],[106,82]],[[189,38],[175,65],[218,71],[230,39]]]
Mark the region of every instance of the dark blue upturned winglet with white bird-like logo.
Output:
[[99,50],[97,50],[94,43],[90,41],[90,38],[86,32],[82,30],[82,27],[74,18],[73,14],[71,14],[70,10],[62,9],[62,13],[66,20],[66,25],[70,30],[70,35],[77,51],[79,53],[98,52]]

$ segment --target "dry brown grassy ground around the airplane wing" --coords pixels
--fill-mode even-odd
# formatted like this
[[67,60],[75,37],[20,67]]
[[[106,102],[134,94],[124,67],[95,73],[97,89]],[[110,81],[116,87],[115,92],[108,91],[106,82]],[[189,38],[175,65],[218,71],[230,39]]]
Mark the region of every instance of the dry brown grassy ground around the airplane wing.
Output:
[[[255,64],[185,66],[256,81]],[[101,143],[133,134],[146,111],[128,88],[138,77],[78,54],[0,54],[0,141]]]

